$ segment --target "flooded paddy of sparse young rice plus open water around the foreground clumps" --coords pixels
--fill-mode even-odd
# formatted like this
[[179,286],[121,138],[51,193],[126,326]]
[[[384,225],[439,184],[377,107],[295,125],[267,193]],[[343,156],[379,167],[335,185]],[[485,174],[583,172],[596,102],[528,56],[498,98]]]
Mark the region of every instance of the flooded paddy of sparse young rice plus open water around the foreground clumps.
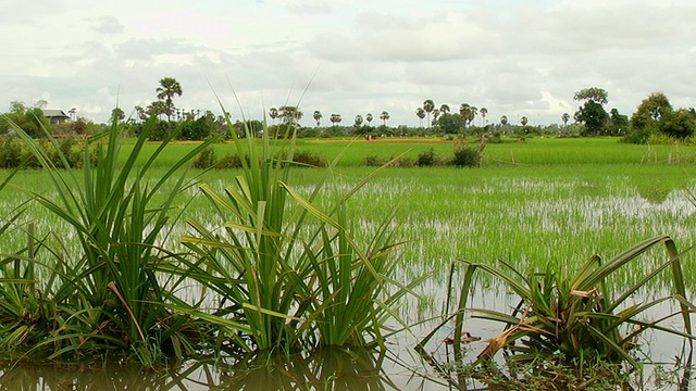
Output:
[[[332,187],[338,190],[350,187],[362,174],[361,169],[338,172]],[[204,180],[221,189],[228,180],[224,175],[228,174],[214,175],[217,177]],[[297,189],[301,192],[304,186],[311,188],[315,178],[309,171],[298,174]],[[678,167],[667,167],[660,176],[635,166],[624,171],[616,167],[607,171],[601,167],[546,168],[545,172],[531,167],[511,172],[386,171],[351,200],[351,224],[359,230],[374,231],[389,211],[398,207],[391,228],[403,244],[398,248],[396,278],[409,281],[424,275],[432,277],[414,289],[422,300],[410,297],[394,307],[410,328],[389,336],[386,345],[377,352],[321,349],[293,356],[290,364],[283,357],[261,355],[191,361],[160,370],[98,363],[22,364],[3,369],[0,389],[482,389],[483,384],[462,382],[452,374],[452,367],[447,367],[449,346],[443,340],[451,327],[438,331],[426,346],[435,362],[423,360],[413,349],[443,320],[444,314],[453,310],[451,303],[446,307],[446,298],[448,274],[455,258],[492,264],[505,261],[521,270],[538,270],[551,263],[572,274],[594,254],[608,258],[660,234],[670,235],[680,249],[685,249],[696,243],[696,207],[688,197],[693,189],[691,175]],[[191,188],[185,194],[196,197],[196,190]],[[211,227],[220,223],[198,200],[191,201],[185,212]],[[55,228],[59,224],[46,215],[32,216],[30,211],[28,215],[28,219],[40,222],[39,230]],[[174,245],[187,229],[181,222],[162,240]],[[631,267],[648,267],[663,258],[663,252],[651,251],[644,255],[642,266],[632,264]],[[686,253],[682,261],[686,286],[693,288],[696,282],[694,254]],[[617,275],[617,286],[632,281],[636,270],[631,267]],[[460,274],[456,274],[456,283],[459,278]],[[635,302],[663,294],[669,286],[668,278],[657,278]],[[502,311],[515,304],[511,292],[494,280],[481,276],[474,287],[473,307]],[[693,299],[693,291],[688,293],[687,300]],[[181,294],[197,297],[200,292]],[[656,307],[654,314],[658,317],[669,310],[673,308],[666,304]],[[402,328],[396,323],[390,325]],[[467,346],[471,356],[500,331],[497,326],[478,319],[465,320],[467,330],[482,339]],[[680,373],[671,368],[678,364],[674,357],[680,354],[682,342],[659,333],[646,335],[646,340],[639,341],[643,360],[661,364],[658,371],[652,364],[645,366],[638,381],[645,382],[646,390],[676,389],[674,382]]]

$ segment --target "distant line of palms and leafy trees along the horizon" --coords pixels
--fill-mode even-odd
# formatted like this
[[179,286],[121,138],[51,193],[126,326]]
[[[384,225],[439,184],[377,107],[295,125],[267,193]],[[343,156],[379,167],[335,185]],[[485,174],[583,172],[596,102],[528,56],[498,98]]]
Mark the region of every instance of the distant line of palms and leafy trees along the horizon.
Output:
[[[209,137],[228,137],[228,113],[216,115],[206,110],[185,110],[175,104],[175,98],[184,93],[182,85],[173,77],[163,77],[156,88],[157,100],[146,106],[136,105],[133,115],[126,118],[126,113],[121,108],[111,112],[111,118],[124,125],[124,133],[137,137],[144,123],[151,117],[157,118],[157,124],[150,133],[150,139],[163,140],[174,129],[178,129],[178,138],[183,140],[203,140]],[[297,137],[336,137],[336,136],[372,136],[372,137],[409,137],[409,136],[467,136],[482,133],[497,133],[501,135],[530,135],[530,134],[556,134],[571,136],[619,136],[625,142],[670,142],[676,139],[685,141],[691,139],[696,130],[696,112],[693,108],[674,109],[668,97],[662,92],[654,92],[644,99],[635,113],[629,118],[616,108],[607,111],[605,105],[609,102],[608,92],[598,87],[585,88],[576,91],[573,100],[580,103],[577,111],[571,116],[563,113],[560,116],[562,126],[530,126],[526,116],[519,117],[519,124],[512,124],[507,115],[501,115],[499,121],[489,121],[488,109],[476,108],[469,103],[461,103],[459,110],[453,112],[449,104],[436,105],[432,99],[425,99],[423,104],[414,111],[420,126],[389,127],[390,114],[382,111],[378,115],[366,113],[358,114],[352,124],[341,125],[344,118],[339,113],[331,113],[327,117],[331,126],[322,126],[324,115],[315,110],[312,113],[315,126],[302,127],[300,119],[304,116],[298,106],[282,105],[271,108],[265,121],[235,121],[233,129],[245,136],[246,129],[254,133],[270,131],[274,137],[288,135]],[[71,119],[67,123],[51,125],[42,115],[46,101],[39,101],[32,106],[21,101],[13,101],[10,111],[0,116],[0,134],[11,133],[11,124],[25,129],[27,134],[40,137],[42,129],[50,129],[59,136],[84,136],[103,130],[105,125],[97,125],[84,118],[74,118],[75,109],[71,109]],[[478,126],[476,118],[480,117]],[[574,119],[573,123],[569,122]],[[373,122],[378,123],[373,125]],[[425,121],[425,125],[423,122]]]

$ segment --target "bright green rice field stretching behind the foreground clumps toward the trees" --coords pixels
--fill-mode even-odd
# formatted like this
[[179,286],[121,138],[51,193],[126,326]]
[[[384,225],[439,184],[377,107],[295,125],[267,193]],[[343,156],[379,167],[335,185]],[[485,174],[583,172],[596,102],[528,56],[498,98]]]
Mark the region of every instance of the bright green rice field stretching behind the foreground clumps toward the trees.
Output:
[[[127,147],[124,144],[125,151]],[[172,149],[158,159],[158,167],[148,173],[152,178],[158,178],[160,172],[163,174],[166,171],[170,159],[175,161],[176,156],[191,148],[188,144],[170,147]],[[228,147],[214,146],[220,149],[220,154],[226,153]],[[149,148],[153,148],[153,144],[146,146],[146,151]],[[282,149],[283,146],[276,148]],[[451,153],[453,147],[451,142],[350,143],[301,140],[297,148],[328,159],[348,148],[345,157],[333,168],[327,186],[328,189],[345,190],[359,184],[373,171],[363,166],[368,156],[408,154],[415,157],[431,148],[446,155]],[[696,206],[687,195],[688,191],[696,192],[694,152],[696,149],[674,146],[623,146],[617,144],[613,139],[532,139],[525,143],[490,144],[486,147],[484,166],[481,168],[388,167],[382,171],[350,199],[347,204],[348,222],[369,238],[390,211],[397,210],[390,228],[394,237],[403,243],[398,248],[399,268],[396,276],[406,282],[419,276],[433,275],[418,289],[424,301],[409,300],[398,308],[409,324],[422,323],[423,327],[412,331],[423,333],[428,329],[427,319],[437,317],[445,308],[444,287],[455,258],[492,264],[501,260],[530,270],[551,263],[558,265],[559,269],[572,273],[593,254],[608,258],[660,234],[670,235],[680,249],[696,243],[693,229]],[[238,174],[234,169],[191,169],[188,176],[222,191]],[[322,169],[297,168],[291,171],[290,181],[295,189],[309,197],[323,174]],[[26,200],[27,192],[54,197],[48,184],[45,172],[22,172],[9,188],[0,192],[0,204],[5,210],[12,209]],[[160,191],[164,198],[166,187]],[[333,192],[327,191],[319,195],[316,203],[330,205],[332,201]],[[192,217],[212,225],[219,218],[195,186],[182,192],[174,204],[177,206],[173,213],[184,218]],[[298,207],[290,205],[289,214],[293,215],[293,210]],[[46,214],[38,204],[29,204],[23,219],[35,223],[39,237],[55,231],[70,237],[64,222]],[[181,237],[188,234],[189,228],[181,219],[167,228],[166,237],[161,240],[166,242],[166,247],[175,247]],[[25,239],[17,236],[15,240],[15,244],[5,242],[4,245],[20,245]],[[657,262],[662,255],[655,253],[645,262]],[[694,254],[691,253],[683,258],[688,287],[694,287],[696,282],[694,262]],[[630,281],[632,275],[631,269],[626,269],[616,283]],[[656,281],[657,285],[650,287],[654,292],[662,291],[669,283],[668,279]],[[482,292],[482,305],[489,305],[506,295],[505,291],[498,291],[499,287],[487,280],[480,280],[476,289]],[[689,293],[693,295],[693,291]],[[395,340],[399,344],[396,348],[397,355],[408,356],[408,344],[413,343],[414,339],[397,336]],[[312,368],[303,369],[304,374],[315,370],[312,365],[319,368],[328,365],[318,364],[315,358],[306,357],[304,361],[310,362],[308,365]],[[372,356],[361,361],[372,371],[378,371],[381,367],[390,368],[387,369],[390,371],[371,378],[375,381],[375,388],[443,389],[437,381],[430,379],[432,374],[428,375],[426,366],[417,369],[423,375],[421,380],[405,378],[403,371],[423,364],[418,360],[405,360],[406,368],[389,366],[383,361],[384,357],[374,360]],[[235,378],[223,375],[225,370],[201,369],[197,365],[190,373],[184,369],[183,374],[171,376],[186,379],[182,381],[189,389],[198,389],[202,387],[199,383],[202,380],[191,379],[191,376],[210,376],[213,379],[210,381],[217,384],[236,387],[250,381],[244,374],[248,377],[257,374],[253,368],[246,368],[236,371],[238,375]],[[264,377],[263,374],[268,375],[264,371],[260,374],[260,378]],[[157,382],[167,383],[167,380],[158,379]],[[256,387],[251,384],[258,386],[249,382],[247,387]]]

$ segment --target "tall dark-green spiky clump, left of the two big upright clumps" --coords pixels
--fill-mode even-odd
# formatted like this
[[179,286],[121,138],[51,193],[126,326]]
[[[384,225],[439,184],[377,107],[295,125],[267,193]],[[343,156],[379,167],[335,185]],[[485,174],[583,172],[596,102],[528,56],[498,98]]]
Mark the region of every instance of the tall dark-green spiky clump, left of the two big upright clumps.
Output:
[[[173,257],[158,244],[166,234],[175,197],[186,188],[186,174],[175,178],[177,172],[209,143],[199,144],[152,178],[149,168],[176,135],[173,133],[140,163],[153,124],[154,118],[144,126],[125,163],[119,164],[120,127],[114,119],[110,130],[86,141],[82,177],[64,169],[71,164],[57,140],[48,138],[62,167],[45,148],[16,129],[48,171],[57,194],[53,199],[36,193],[36,200],[74,229],[82,250],[66,260],[53,253],[55,263],[63,265],[61,283],[51,298],[60,313],[52,337],[37,346],[53,346],[52,356],[115,348],[151,357],[142,350],[157,355],[163,350],[161,344],[182,356],[182,350],[190,345],[179,333],[187,329],[188,317],[172,314],[164,304],[181,304],[173,292],[182,280],[158,273]],[[164,200],[154,203],[162,191],[166,192]]]

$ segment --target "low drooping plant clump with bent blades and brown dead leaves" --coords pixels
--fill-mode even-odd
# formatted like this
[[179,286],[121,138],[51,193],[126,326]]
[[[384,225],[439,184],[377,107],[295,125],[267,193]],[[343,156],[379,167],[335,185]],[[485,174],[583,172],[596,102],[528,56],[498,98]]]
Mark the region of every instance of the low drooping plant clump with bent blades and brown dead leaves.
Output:
[[[667,261],[655,268],[644,269],[636,283],[621,287],[616,295],[607,289],[607,280],[621,267],[641,262],[638,256],[658,244],[666,245]],[[606,263],[595,255],[570,276],[548,266],[543,273],[525,277],[507,263],[502,263],[505,268],[499,268],[460,261],[467,266],[468,277],[461,288],[453,340],[459,341],[462,337],[464,306],[473,280],[471,276],[480,269],[505,282],[520,297],[520,302],[510,314],[486,308],[467,310],[474,313],[473,317],[505,325],[504,331],[492,338],[478,354],[476,363],[490,360],[498,351],[505,350],[515,362],[536,362],[539,366],[557,363],[582,367],[601,361],[629,364],[635,369],[638,363],[632,350],[643,332],[669,332],[685,338],[689,345],[694,339],[691,324],[694,306],[685,299],[681,255],[671,238],[658,236]],[[641,289],[663,272],[671,274],[672,294],[632,304],[630,299],[641,294]],[[651,308],[668,300],[674,300],[679,311],[658,319],[644,318]],[[682,317],[681,330],[664,325],[675,316]]]

